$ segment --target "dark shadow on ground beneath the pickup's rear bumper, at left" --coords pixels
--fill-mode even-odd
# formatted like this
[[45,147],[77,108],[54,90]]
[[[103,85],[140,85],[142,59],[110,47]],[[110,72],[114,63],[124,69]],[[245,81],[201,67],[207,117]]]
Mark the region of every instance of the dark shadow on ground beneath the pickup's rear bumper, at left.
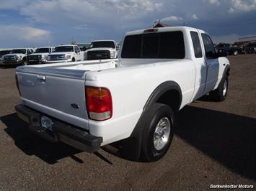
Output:
[[[16,113],[1,116],[0,119],[6,125],[4,131],[14,139],[15,145],[25,154],[35,155],[48,164],[55,164],[59,159],[66,157],[71,157],[74,161],[83,163],[83,160],[74,155],[81,152],[81,150],[63,143],[50,143],[34,136],[28,131],[27,124]],[[102,154],[95,152],[94,155],[111,164]]]

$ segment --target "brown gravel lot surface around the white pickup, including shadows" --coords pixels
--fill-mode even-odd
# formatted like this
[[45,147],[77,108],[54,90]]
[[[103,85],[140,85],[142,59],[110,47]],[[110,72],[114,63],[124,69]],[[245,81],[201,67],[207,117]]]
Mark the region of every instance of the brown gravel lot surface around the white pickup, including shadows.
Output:
[[131,162],[100,149],[80,152],[29,131],[14,106],[14,68],[0,68],[0,190],[208,190],[256,188],[256,55],[229,57],[226,101],[206,98],[177,115],[175,138],[159,162]]

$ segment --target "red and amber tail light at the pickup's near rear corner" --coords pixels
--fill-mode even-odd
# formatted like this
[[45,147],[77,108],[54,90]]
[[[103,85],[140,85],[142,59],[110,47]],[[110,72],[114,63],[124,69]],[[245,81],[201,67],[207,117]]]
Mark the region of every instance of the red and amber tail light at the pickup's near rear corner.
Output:
[[107,88],[85,87],[89,118],[105,121],[112,117],[112,98]]

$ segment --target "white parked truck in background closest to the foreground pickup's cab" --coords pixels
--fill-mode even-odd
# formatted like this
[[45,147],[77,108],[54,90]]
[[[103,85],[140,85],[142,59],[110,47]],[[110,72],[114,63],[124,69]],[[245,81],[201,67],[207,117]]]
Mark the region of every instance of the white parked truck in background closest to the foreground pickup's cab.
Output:
[[84,52],[84,60],[103,60],[118,58],[118,45],[115,40],[93,41]]

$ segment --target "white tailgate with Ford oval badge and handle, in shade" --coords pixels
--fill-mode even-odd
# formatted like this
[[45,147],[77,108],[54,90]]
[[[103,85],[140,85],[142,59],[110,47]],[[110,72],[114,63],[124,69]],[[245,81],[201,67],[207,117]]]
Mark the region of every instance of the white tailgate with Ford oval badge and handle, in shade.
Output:
[[88,128],[85,70],[18,67],[22,103],[84,129]]

